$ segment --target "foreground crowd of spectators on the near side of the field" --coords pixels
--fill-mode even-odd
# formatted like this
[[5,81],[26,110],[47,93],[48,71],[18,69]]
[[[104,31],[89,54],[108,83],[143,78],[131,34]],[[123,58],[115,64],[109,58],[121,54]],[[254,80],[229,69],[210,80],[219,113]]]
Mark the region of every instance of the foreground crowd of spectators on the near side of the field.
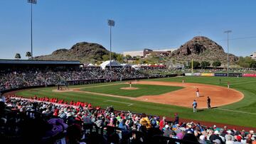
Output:
[[[203,144],[256,143],[254,131],[185,123],[179,121],[178,113],[175,113],[174,119],[167,121],[165,117],[146,116],[144,113],[114,111],[112,106],[101,109],[80,101],[67,103],[61,99],[36,96],[31,99],[8,96],[0,104],[1,135],[9,138],[16,134],[16,138],[26,143],[39,143],[42,140],[43,143],[47,140],[47,143],[172,143],[175,140]],[[11,111],[16,111],[19,115],[25,113],[30,119],[21,121],[16,117],[17,114],[8,114]],[[40,114],[39,118],[36,113]],[[118,131],[112,131],[111,128],[117,128]],[[92,129],[101,129],[102,135],[100,131]],[[161,137],[156,140],[154,135]],[[163,138],[167,140],[161,140]]]

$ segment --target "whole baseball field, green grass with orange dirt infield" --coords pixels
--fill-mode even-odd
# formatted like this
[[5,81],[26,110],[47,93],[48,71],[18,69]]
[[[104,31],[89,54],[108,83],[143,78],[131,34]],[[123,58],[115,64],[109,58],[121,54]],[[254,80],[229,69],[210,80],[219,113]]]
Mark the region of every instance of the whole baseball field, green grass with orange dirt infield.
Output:
[[[200,97],[196,97],[196,88]],[[131,87],[127,82],[111,82],[71,86],[60,92],[56,92],[56,87],[26,89],[16,95],[86,101],[92,106],[114,106],[121,111],[170,118],[178,113],[184,119],[256,128],[256,79],[253,77],[171,77],[140,80],[132,82]],[[207,96],[213,109],[206,109]],[[191,108],[193,99],[198,101],[197,113]]]

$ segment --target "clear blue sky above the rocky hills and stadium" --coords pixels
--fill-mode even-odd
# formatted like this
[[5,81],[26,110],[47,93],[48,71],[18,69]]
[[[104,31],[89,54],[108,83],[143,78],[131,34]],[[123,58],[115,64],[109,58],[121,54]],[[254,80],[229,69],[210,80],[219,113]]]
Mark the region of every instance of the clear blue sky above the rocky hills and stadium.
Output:
[[[112,50],[178,48],[204,35],[226,51],[256,51],[255,0],[38,0],[33,6],[33,55],[48,55],[78,42],[110,47],[107,19],[116,21]],[[248,38],[252,37],[252,38]],[[0,58],[25,57],[30,50],[30,5],[27,0],[0,0]]]

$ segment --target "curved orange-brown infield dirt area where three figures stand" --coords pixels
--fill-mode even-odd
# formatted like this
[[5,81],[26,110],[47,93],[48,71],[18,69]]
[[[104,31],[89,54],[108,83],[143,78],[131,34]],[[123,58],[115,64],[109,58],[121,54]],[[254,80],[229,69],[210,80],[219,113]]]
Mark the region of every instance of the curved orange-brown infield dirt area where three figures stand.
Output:
[[[235,89],[228,89],[226,87],[220,87],[220,86],[209,85],[209,84],[181,83],[181,82],[150,82],[150,81],[140,81],[140,82],[136,82],[136,84],[178,86],[178,87],[184,87],[184,88],[174,92],[168,92],[160,95],[139,96],[134,100],[192,107],[193,100],[195,99],[198,103],[198,109],[207,108],[207,96],[209,96],[211,99],[211,102],[210,102],[211,107],[232,104],[242,100],[244,97],[244,95],[241,92],[238,92]],[[196,96],[197,88],[199,89],[199,95],[200,95],[199,97]]]

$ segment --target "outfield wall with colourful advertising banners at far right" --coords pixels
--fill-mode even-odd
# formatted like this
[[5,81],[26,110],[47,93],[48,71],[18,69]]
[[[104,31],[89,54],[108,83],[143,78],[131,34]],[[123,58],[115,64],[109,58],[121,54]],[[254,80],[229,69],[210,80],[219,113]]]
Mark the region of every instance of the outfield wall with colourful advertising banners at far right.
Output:
[[202,76],[202,77],[256,77],[256,74],[242,73],[185,73],[185,76]]

